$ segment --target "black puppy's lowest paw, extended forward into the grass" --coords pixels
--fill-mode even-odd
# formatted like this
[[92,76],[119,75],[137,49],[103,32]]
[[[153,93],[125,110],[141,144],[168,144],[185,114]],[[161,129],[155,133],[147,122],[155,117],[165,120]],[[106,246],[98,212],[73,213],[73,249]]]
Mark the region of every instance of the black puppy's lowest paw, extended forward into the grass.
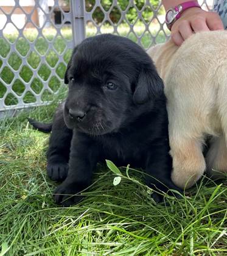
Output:
[[54,200],[59,205],[69,207],[83,199],[83,196],[77,194],[79,191],[81,190],[77,187],[76,183],[63,182],[54,191]]

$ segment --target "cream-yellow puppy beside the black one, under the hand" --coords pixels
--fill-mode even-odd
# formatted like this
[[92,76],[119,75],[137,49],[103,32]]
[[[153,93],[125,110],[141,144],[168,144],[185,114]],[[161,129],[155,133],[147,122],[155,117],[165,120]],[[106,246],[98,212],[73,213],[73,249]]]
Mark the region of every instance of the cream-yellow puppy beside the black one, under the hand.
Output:
[[227,173],[227,31],[192,35],[179,48],[168,41],[148,54],[165,84],[173,182],[189,188],[205,169]]

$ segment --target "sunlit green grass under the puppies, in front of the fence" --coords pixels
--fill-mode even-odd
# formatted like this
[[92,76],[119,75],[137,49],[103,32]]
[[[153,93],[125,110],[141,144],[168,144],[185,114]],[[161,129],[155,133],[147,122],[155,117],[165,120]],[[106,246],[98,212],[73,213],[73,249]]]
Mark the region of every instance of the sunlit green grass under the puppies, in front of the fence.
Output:
[[153,202],[140,171],[120,169],[114,186],[119,174],[103,165],[84,201],[55,205],[57,183],[46,175],[49,135],[33,130],[26,117],[50,121],[56,104],[1,121],[1,256],[227,254],[226,180],[217,185],[204,177],[184,199],[167,196],[166,207]]

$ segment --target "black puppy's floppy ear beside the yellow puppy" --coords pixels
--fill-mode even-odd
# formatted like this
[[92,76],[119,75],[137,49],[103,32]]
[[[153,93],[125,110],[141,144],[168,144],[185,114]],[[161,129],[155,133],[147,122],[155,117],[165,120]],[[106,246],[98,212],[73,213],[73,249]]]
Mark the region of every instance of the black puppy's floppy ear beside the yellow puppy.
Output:
[[156,69],[142,68],[133,94],[134,103],[144,104],[150,99],[159,98],[163,93],[164,84]]

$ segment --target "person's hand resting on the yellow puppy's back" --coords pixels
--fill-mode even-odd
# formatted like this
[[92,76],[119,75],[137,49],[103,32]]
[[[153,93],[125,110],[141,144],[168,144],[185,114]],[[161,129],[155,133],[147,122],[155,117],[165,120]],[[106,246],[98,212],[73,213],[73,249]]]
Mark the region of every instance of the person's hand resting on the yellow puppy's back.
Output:
[[190,35],[199,31],[223,29],[222,20],[217,13],[193,7],[185,10],[181,18],[173,23],[171,38],[176,45],[180,46]]

